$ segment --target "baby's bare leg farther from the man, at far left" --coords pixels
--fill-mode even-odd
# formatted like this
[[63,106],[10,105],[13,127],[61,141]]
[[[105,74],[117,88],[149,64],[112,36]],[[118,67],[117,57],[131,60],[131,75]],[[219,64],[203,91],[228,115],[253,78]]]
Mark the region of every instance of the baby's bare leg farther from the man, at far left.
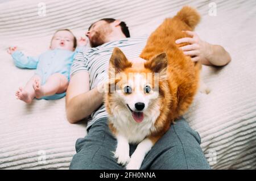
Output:
[[40,80],[39,75],[34,75],[31,79],[27,82],[24,88],[19,87],[19,90],[16,91],[15,95],[17,99],[23,100],[26,103],[31,103],[32,100],[35,98],[35,90],[33,89],[33,82],[38,79]]

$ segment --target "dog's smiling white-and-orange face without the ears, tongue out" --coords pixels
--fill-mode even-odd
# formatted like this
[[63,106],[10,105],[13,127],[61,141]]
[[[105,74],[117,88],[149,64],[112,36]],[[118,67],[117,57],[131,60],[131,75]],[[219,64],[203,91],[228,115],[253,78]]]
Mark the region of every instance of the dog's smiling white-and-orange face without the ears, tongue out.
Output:
[[122,80],[116,84],[115,94],[118,100],[122,100],[121,103],[127,106],[137,123],[143,121],[144,112],[149,111],[148,107],[158,98],[154,78],[150,74],[131,72],[127,69],[122,75]]

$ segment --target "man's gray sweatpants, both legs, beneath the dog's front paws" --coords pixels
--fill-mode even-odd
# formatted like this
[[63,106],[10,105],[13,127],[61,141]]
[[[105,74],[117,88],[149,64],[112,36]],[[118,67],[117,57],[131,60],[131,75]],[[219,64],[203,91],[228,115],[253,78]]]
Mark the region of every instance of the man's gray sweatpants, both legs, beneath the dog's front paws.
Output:
[[[181,118],[146,154],[141,169],[210,169],[200,142],[199,134]],[[69,169],[125,169],[113,158],[116,146],[107,118],[97,120],[88,135],[77,140]],[[130,145],[130,155],[136,146]]]

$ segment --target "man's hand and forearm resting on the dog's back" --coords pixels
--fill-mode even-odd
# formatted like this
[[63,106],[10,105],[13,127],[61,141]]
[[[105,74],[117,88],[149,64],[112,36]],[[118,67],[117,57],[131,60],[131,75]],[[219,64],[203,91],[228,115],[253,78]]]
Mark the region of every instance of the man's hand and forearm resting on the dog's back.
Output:
[[220,45],[212,45],[202,41],[199,36],[192,31],[185,31],[189,36],[176,40],[176,44],[189,43],[180,47],[184,54],[191,56],[192,61],[201,61],[204,65],[224,66],[231,61],[231,57]]

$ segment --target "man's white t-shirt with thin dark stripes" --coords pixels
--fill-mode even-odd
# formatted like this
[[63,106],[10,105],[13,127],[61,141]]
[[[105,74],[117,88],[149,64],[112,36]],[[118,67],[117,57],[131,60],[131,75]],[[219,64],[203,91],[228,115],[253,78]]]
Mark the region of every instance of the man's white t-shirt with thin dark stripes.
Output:
[[[118,41],[110,41],[99,47],[77,53],[71,67],[71,76],[79,71],[88,71],[90,79],[90,90],[94,89],[99,83],[106,82],[108,79],[109,60],[113,49],[118,47],[128,59],[136,58],[141,54],[146,45],[147,36],[137,38],[126,38]],[[88,117],[89,128],[95,121],[108,116],[104,104],[102,104],[90,117]]]

